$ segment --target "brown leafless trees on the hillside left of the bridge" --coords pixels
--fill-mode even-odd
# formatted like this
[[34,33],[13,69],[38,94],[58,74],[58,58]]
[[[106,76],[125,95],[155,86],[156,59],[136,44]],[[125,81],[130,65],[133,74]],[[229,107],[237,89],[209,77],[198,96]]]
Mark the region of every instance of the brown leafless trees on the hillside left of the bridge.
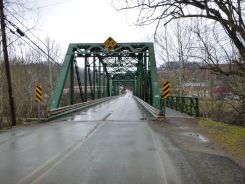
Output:
[[[58,78],[59,67],[38,58],[38,53],[28,50],[23,56],[12,57],[10,62],[12,74],[13,96],[15,98],[17,122],[23,118],[37,116],[37,103],[35,102],[35,87],[43,87],[42,115],[46,115],[51,100],[52,89],[50,82],[55,83]],[[50,77],[50,73],[52,76]],[[4,67],[0,62],[0,117],[2,123],[8,124],[7,89]],[[1,126],[1,120],[0,120]]]

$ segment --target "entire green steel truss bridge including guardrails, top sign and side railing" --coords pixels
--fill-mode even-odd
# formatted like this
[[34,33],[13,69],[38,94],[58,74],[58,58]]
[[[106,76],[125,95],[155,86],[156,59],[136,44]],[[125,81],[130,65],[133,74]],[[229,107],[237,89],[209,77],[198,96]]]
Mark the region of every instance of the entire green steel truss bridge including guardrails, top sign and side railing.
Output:
[[[78,66],[83,68],[82,75]],[[75,82],[79,88],[79,103],[77,95],[75,98]],[[67,84],[69,104],[61,107]],[[109,38],[105,43],[69,45],[51,99],[49,118],[113,99],[125,89],[130,89],[134,98],[155,117],[164,116],[165,104],[198,115],[195,113],[198,109],[196,100],[169,97],[170,100],[164,103],[161,99],[153,43],[116,43]]]

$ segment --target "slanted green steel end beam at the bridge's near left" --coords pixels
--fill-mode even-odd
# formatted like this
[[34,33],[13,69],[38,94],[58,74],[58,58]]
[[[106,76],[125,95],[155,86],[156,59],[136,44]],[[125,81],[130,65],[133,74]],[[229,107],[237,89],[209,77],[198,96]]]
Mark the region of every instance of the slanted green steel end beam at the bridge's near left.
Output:
[[61,99],[61,96],[63,93],[65,81],[67,78],[67,73],[68,73],[71,61],[73,60],[73,57],[74,57],[73,56],[73,47],[70,44],[68,49],[67,49],[67,52],[66,52],[66,57],[65,57],[64,63],[63,63],[61,70],[60,70],[57,85],[54,89],[54,93],[53,93],[52,98],[51,98],[50,109],[55,109],[55,108],[59,107],[60,99]]

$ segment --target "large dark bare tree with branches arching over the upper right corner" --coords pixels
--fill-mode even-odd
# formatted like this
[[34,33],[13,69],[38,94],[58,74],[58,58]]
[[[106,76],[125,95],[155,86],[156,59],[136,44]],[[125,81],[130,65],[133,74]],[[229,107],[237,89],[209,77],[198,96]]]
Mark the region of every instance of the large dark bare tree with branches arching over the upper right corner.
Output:
[[245,77],[244,1],[115,0],[115,2],[119,4],[119,7],[116,7],[119,10],[138,9],[139,17],[137,19],[137,24],[149,25],[156,23],[156,29],[161,24],[166,25],[172,20],[180,18],[194,17],[218,22],[223,28],[225,34],[227,34],[232,40],[232,44],[234,44],[240,55],[238,60],[233,61],[233,64],[237,66],[236,70],[224,71],[219,69],[219,72],[225,75],[238,75]]

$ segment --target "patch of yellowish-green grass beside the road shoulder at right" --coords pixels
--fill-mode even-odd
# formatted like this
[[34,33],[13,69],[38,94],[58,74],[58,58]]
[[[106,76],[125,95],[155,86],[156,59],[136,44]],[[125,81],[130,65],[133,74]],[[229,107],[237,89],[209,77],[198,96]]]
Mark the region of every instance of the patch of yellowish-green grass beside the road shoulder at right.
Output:
[[245,128],[202,119],[199,126],[226,152],[245,162]]

